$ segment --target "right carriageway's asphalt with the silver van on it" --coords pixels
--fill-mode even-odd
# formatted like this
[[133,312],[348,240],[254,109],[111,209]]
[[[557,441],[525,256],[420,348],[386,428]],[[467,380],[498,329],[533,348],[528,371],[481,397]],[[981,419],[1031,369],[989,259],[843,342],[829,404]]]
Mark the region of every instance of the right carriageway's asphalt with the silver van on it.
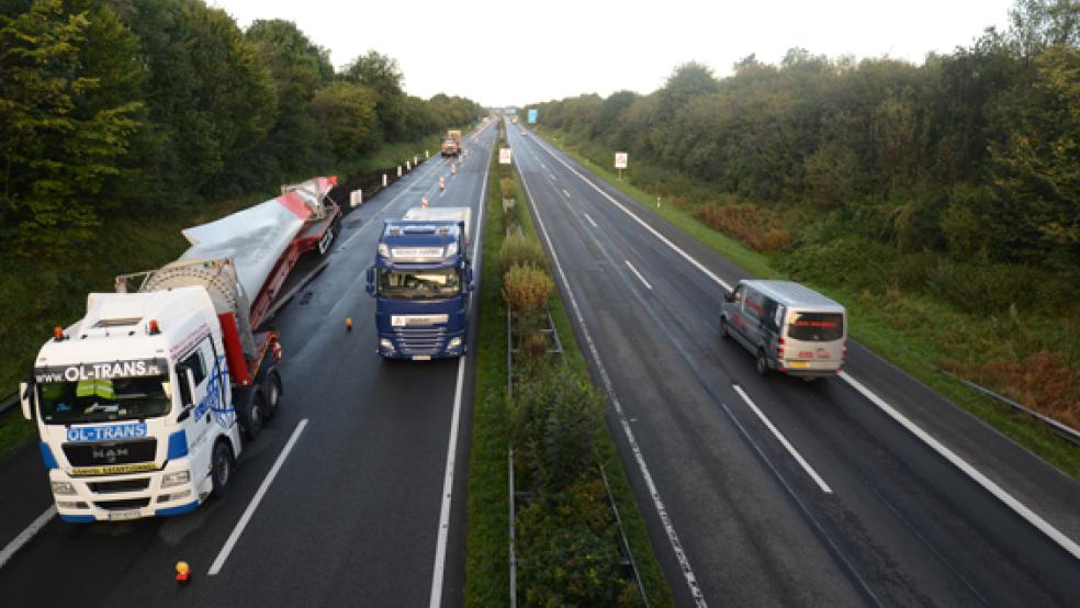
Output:
[[[1075,601],[1076,558],[841,379],[758,376],[747,352],[718,338],[723,286],[597,188],[639,216],[651,213],[533,134],[509,132],[551,249],[685,549],[680,564],[646,484],[632,473],[680,605],[694,603],[684,565],[702,603],[712,605]],[[745,275],[654,216],[648,223],[720,281]],[[1003,472],[994,461],[1001,455],[981,462],[1061,529],[1076,529],[1073,481],[852,346],[853,375],[921,424],[924,412],[935,413],[930,430],[966,454],[1008,454],[1012,466]],[[616,418],[610,423],[633,471]],[[1027,481],[1010,483],[1019,477]]]

